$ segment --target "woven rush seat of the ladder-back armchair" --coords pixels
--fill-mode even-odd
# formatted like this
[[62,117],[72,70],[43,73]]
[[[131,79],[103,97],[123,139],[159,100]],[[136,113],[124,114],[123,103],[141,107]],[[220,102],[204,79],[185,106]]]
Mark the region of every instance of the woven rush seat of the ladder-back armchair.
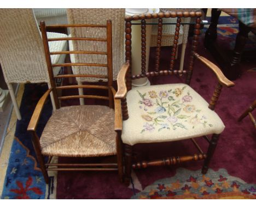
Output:
[[112,108],[68,106],[51,115],[40,145],[49,156],[108,156],[116,154],[115,137]]

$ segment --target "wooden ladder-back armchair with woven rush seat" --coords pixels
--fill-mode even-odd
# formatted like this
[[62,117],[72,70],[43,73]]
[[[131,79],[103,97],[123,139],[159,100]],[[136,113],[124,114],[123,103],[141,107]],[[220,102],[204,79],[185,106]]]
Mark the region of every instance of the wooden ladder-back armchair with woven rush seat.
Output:
[[[57,25],[45,26],[42,21],[40,23],[42,29],[42,37],[45,50],[45,58],[48,64],[48,72],[51,81],[51,88],[39,100],[36,109],[32,115],[28,131],[32,133],[32,142],[36,151],[37,159],[42,169],[46,183],[49,181],[48,170],[118,170],[120,180],[123,178],[123,168],[121,163],[121,140],[117,140],[117,133],[114,131],[114,119],[120,119],[120,114],[115,114],[115,111],[120,112],[120,101],[115,100],[115,90],[112,87],[112,23],[107,21],[106,25]],[[46,28],[99,28],[105,30],[104,38],[94,38],[92,36],[78,36],[67,38],[47,38]],[[49,51],[49,43],[51,41],[101,41],[107,45],[105,52],[98,52],[93,50],[88,51]],[[50,55],[52,54],[103,54],[107,57],[107,64],[102,63],[65,63],[65,64],[51,64]],[[107,75],[95,74],[64,74],[53,75],[55,67],[70,67],[70,66],[96,66],[104,67]],[[106,85],[100,85],[97,82],[92,84],[81,85],[62,85],[56,87],[54,83],[55,78],[70,78],[70,77],[95,77],[107,79]],[[65,82],[63,82],[65,83]],[[106,90],[108,96],[100,96],[97,93],[94,95],[70,95],[57,97],[57,90],[67,89],[95,89]],[[51,115],[48,123],[46,124],[42,136],[37,136],[36,127],[38,119],[42,112],[44,103],[49,93],[53,91],[54,100],[56,103],[56,111]],[[100,99],[107,100],[109,106],[103,105],[79,105],[79,106],[66,106],[60,107],[59,100],[67,99]],[[113,109],[115,108],[115,109]],[[117,115],[117,118],[115,118]],[[117,155],[117,162],[114,163],[83,163],[83,164],[63,164],[63,163],[50,163],[53,156],[59,157],[102,157]],[[44,156],[49,156],[49,161],[44,163]],[[54,168],[53,166],[57,166]]]

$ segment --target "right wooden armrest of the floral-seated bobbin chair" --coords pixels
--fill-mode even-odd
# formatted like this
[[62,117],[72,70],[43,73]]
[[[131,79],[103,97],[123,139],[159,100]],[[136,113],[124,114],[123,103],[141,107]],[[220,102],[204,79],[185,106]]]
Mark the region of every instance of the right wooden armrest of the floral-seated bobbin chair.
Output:
[[200,56],[198,53],[195,53],[195,52],[194,52],[194,56],[197,59],[199,59],[203,64],[208,66],[208,68],[210,68],[214,72],[214,74],[216,74],[218,81],[221,85],[225,87],[233,87],[235,85],[235,83],[231,82],[228,78],[226,78],[225,75],[222,73],[222,70],[220,70],[218,66],[210,62],[210,60]]

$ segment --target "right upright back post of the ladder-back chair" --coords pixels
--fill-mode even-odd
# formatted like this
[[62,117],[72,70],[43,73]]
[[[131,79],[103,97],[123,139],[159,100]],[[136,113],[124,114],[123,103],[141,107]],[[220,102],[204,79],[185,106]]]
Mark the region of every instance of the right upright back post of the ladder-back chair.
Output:
[[113,108],[112,90],[110,87],[113,86],[113,63],[112,63],[112,21],[107,20],[107,65],[108,65],[108,97],[109,107]]

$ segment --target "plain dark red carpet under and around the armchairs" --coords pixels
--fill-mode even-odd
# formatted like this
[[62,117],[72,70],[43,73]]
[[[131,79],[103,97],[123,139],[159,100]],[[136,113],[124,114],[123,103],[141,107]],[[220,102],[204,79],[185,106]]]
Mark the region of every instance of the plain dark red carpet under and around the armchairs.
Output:
[[[189,44],[187,51],[189,51]],[[170,47],[166,47],[162,51],[162,59],[168,63]],[[202,39],[199,44],[198,53],[214,62],[210,53],[203,48]],[[151,56],[153,57],[154,48],[152,48]],[[186,57],[189,53],[186,53]],[[185,60],[188,60],[185,58]],[[154,62],[154,61],[153,61]],[[150,69],[154,67],[154,63],[150,62]],[[185,70],[188,69],[188,63],[185,61]],[[178,68],[179,63],[176,63]],[[256,97],[256,73],[247,70],[255,68],[254,63],[242,63],[243,74],[235,81],[235,87],[223,88],[217,103],[216,112],[226,126],[222,133],[216,152],[213,156],[210,168],[213,172],[218,172],[220,168],[226,169],[226,172],[234,177],[240,178],[246,183],[256,183],[256,167],[255,167],[255,148],[256,148],[256,131],[248,118],[241,123],[237,122],[237,118],[248,107]],[[163,84],[181,82],[176,77],[160,77],[158,80],[152,79],[152,84]],[[208,70],[199,62],[195,62],[194,74],[191,82],[193,87],[208,102],[217,84],[217,79],[213,72]],[[200,145],[205,148],[205,140],[197,140]],[[173,142],[168,144],[147,144],[136,145],[136,149],[142,151],[143,157],[147,159],[153,158],[156,154],[159,158],[162,156],[176,155],[176,152],[190,152],[194,150],[194,145],[190,141]],[[129,199],[135,197],[135,193],[152,185],[157,180],[164,180],[172,176],[179,180],[176,175],[177,168],[182,167],[188,172],[199,170],[202,162],[184,163],[179,166],[148,168],[146,170],[135,170],[133,173],[133,187],[125,187],[118,181],[118,174],[113,172],[59,172],[57,178],[57,195],[59,199]],[[174,179],[173,179],[174,180]],[[254,188],[256,188],[254,186]],[[253,195],[253,188],[251,195]],[[205,196],[207,198],[207,196]],[[181,197],[182,198],[182,197]],[[185,196],[184,196],[185,198]],[[211,198],[211,194],[208,195]]]

